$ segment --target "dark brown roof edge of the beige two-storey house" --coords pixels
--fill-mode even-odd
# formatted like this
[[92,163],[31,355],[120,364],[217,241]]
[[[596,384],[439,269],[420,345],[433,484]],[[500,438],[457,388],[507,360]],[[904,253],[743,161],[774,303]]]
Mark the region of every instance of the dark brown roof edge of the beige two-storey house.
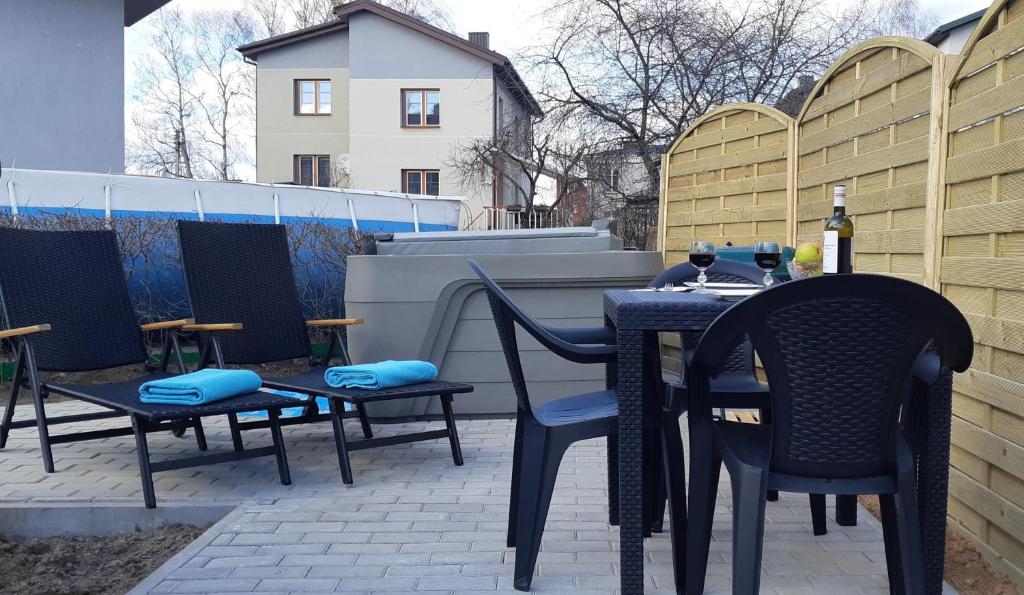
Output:
[[523,107],[537,116],[540,116],[543,113],[541,105],[537,102],[537,99],[534,98],[534,95],[530,94],[529,89],[526,87],[526,83],[522,81],[519,74],[516,73],[515,68],[512,66],[512,61],[505,55],[492,49],[474,45],[470,43],[468,39],[463,39],[458,35],[449,33],[443,29],[439,29],[433,25],[414,18],[404,12],[389,8],[378,2],[374,2],[373,0],[353,0],[352,2],[339,4],[335,7],[337,20],[306,29],[300,29],[299,31],[278,35],[261,41],[248,43],[241,46],[239,51],[242,52],[242,55],[245,57],[255,60],[257,59],[257,56],[264,51],[348,29],[348,17],[359,12],[371,12],[383,18],[387,18],[392,23],[408,27],[409,29],[422,33],[427,37],[436,39],[437,41],[461,49],[466,53],[493,63],[495,67],[495,74],[502,80],[502,82],[512,89],[516,98],[523,104]]

